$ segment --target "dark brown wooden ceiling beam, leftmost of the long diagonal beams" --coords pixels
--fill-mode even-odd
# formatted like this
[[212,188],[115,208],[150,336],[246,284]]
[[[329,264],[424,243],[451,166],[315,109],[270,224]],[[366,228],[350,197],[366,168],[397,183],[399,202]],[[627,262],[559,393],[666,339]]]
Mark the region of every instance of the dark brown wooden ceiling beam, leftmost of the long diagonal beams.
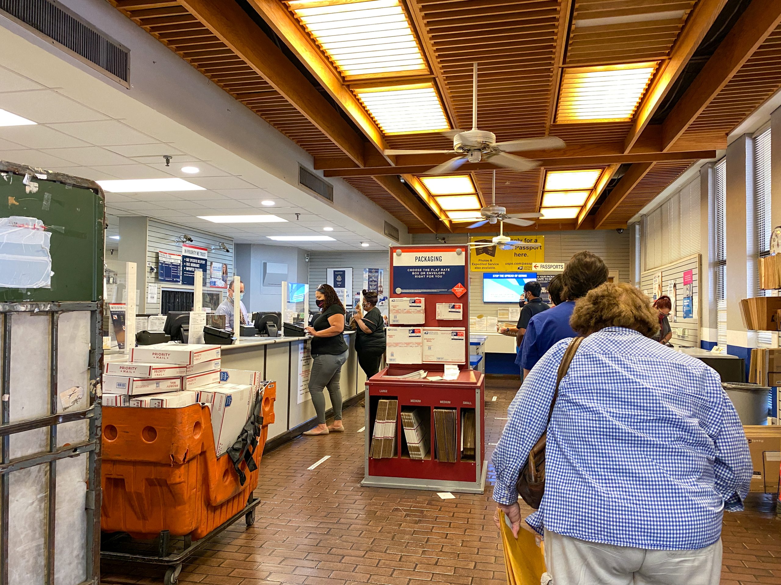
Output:
[[181,3],[344,154],[357,165],[363,165],[362,137],[236,2],[181,0]]

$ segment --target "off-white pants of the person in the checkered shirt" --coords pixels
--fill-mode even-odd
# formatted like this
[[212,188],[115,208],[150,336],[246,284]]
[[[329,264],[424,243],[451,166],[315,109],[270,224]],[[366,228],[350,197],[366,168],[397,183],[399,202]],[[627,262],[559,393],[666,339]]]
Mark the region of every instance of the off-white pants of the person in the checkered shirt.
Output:
[[657,551],[581,541],[545,530],[542,585],[719,585],[722,541]]

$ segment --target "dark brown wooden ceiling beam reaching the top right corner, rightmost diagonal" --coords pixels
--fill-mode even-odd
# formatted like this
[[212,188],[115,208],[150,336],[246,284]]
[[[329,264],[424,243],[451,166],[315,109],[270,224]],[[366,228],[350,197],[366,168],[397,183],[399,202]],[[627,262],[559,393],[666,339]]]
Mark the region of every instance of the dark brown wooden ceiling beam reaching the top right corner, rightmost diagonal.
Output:
[[667,115],[662,125],[663,151],[672,147],[779,23],[779,0],[753,0],[748,5],[719,44],[719,48],[716,48],[699,75]]

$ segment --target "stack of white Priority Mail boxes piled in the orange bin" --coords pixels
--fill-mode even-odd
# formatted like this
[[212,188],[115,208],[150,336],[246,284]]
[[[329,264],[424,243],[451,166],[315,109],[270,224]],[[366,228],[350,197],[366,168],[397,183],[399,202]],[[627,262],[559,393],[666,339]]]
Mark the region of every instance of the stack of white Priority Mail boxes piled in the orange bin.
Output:
[[220,346],[162,343],[130,350],[129,362],[103,365],[103,406],[211,409],[217,456],[236,441],[255,403],[273,382],[260,372],[223,370]]

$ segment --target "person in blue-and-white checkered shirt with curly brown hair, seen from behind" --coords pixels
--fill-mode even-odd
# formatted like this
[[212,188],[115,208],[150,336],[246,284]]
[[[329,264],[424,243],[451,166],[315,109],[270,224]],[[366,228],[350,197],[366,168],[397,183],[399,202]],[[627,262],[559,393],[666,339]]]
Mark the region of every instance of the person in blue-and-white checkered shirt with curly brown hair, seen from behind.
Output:
[[[587,338],[559,386],[547,427],[545,495],[526,518],[544,533],[547,579],[719,583],[722,514],[743,509],[752,474],[719,374],[650,339],[658,317],[631,285],[592,290],[571,324]],[[556,343],[533,367],[492,458],[494,500],[515,534],[515,483],[545,431],[570,341]]]

